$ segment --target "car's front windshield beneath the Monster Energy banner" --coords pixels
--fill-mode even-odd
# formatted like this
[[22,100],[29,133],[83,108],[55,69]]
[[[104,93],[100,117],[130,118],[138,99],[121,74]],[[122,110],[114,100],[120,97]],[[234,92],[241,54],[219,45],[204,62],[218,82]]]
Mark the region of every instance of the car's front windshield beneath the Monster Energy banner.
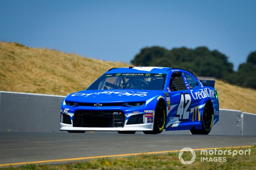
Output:
[[141,89],[163,90],[166,74],[115,73],[103,74],[87,90]]

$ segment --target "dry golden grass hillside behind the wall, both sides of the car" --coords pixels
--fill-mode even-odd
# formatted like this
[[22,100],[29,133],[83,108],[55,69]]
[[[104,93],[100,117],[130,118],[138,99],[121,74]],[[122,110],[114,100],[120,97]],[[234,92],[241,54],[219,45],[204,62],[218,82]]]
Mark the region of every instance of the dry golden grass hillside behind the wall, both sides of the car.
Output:
[[[121,57],[121,56],[120,56]],[[86,89],[113,67],[128,64],[0,42],[0,91],[67,95]],[[220,108],[256,113],[256,90],[217,80]]]

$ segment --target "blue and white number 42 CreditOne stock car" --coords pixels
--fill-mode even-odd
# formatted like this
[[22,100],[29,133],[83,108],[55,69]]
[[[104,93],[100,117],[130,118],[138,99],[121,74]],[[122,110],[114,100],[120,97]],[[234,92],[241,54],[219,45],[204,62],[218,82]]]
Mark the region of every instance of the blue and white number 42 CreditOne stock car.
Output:
[[219,120],[218,93],[215,78],[199,79],[181,68],[109,69],[63,100],[60,130],[208,134]]

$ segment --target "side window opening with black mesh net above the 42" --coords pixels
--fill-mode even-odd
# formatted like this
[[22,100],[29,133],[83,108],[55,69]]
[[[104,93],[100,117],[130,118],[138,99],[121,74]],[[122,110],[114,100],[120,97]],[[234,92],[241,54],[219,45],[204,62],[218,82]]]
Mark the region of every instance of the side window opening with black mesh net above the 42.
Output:
[[187,90],[187,87],[180,72],[172,73],[169,85],[172,91]]

